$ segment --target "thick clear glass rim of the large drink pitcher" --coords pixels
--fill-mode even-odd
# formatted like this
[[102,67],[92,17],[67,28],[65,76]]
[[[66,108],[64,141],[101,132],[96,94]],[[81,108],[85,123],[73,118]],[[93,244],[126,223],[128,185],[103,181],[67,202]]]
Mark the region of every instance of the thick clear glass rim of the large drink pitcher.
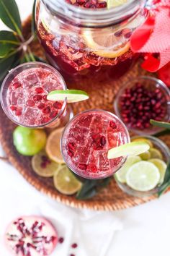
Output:
[[45,6],[52,8],[53,12],[61,14],[62,17],[66,16],[73,21],[78,19],[82,23],[87,23],[88,26],[91,26],[94,24],[99,25],[99,23],[104,22],[111,25],[114,22],[126,20],[128,17],[135,14],[135,12],[138,12],[139,7],[145,7],[147,0],[130,0],[126,4],[111,9],[77,8],[64,0],[42,0],[42,2]]

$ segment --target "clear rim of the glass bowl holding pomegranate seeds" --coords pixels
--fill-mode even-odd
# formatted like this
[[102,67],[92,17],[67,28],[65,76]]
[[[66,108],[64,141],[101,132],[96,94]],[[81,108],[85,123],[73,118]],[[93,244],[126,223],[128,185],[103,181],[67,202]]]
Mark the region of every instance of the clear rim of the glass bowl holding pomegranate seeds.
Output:
[[[128,80],[128,82],[125,82],[124,85],[122,85],[122,88],[117,93],[117,96],[116,96],[115,101],[113,103],[113,107],[115,108],[115,113],[117,114],[117,116],[120,119],[121,119],[121,113],[120,113],[120,110],[119,110],[120,97],[121,97],[122,93],[124,92],[124,90],[126,88],[128,88],[130,84],[132,84],[132,87],[133,87],[134,86],[133,82],[135,82],[135,81],[138,82],[139,80],[152,80],[153,82],[156,82],[156,84],[160,85],[160,87],[164,90],[164,93],[166,94],[166,96],[167,95],[169,96],[169,101],[167,100],[166,104],[167,104],[168,108],[170,107],[170,90],[162,80],[160,80],[156,77],[151,77],[151,76],[138,76],[138,77],[135,77],[133,80]],[[170,113],[168,114],[168,120],[167,121],[169,121],[169,119],[170,119]],[[128,127],[128,128],[133,132],[138,132],[139,135],[143,133],[140,129],[130,128],[130,127]],[[146,129],[146,130],[148,131],[149,129]],[[161,130],[162,130],[162,128],[157,128],[157,131],[161,131]],[[151,133],[150,135],[152,135],[152,134],[153,133]]]

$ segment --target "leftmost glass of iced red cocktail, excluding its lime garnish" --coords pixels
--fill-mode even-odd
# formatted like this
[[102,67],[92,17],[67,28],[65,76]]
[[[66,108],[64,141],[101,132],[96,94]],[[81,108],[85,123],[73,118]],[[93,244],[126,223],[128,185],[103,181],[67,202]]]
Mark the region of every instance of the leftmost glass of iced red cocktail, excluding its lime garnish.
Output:
[[69,120],[70,108],[63,102],[47,100],[51,90],[66,90],[61,74],[48,64],[19,65],[1,86],[1,106],[6,116],[24,127],[57,127]]

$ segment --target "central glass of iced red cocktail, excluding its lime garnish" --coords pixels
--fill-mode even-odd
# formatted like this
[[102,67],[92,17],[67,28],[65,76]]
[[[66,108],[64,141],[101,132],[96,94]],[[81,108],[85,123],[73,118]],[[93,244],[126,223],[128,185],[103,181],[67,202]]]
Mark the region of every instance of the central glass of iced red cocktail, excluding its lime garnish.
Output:
[[130,142],[128,130],[112,113],[85,111],[66,126],[61,139],[61,152],[68,168],[86,179],[103,179],[115,173],[125,157],[109,160],[111,148]]

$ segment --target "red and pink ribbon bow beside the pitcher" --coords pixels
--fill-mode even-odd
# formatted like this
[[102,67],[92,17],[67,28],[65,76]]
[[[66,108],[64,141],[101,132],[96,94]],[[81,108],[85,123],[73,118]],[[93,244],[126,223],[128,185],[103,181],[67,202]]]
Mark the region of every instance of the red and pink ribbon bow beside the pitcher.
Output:
[[132,51],[146,53],[142,67],[150,72],[156,72],[170,61],[170,0],[154,1],[154,4],[156,8],[151,10],[151,16],[130,38]]

